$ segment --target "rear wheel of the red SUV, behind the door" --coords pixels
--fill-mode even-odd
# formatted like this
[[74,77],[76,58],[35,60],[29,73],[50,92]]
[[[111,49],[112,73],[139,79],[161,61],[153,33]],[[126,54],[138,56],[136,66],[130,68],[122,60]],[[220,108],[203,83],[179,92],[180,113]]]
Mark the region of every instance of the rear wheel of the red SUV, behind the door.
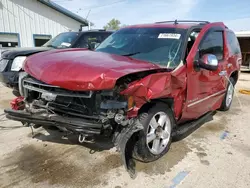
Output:
[[219,109],[221,111],[228,111],[232,105],[233,96],[234,96],[235,80],[232,77],[230,77],[229,80],[230,80],[230,82],[227,85],[227,92],[224,96],[224,99],[221,103],[221,107]]

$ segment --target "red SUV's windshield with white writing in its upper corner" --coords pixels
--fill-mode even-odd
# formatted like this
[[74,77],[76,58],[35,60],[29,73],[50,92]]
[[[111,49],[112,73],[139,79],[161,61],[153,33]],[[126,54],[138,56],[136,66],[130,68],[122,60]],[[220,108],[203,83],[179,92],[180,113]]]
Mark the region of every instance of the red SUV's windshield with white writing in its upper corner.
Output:
[[175,68],[181,61],[186,31],[176,28],[124,28],[110,35],[96,51]]

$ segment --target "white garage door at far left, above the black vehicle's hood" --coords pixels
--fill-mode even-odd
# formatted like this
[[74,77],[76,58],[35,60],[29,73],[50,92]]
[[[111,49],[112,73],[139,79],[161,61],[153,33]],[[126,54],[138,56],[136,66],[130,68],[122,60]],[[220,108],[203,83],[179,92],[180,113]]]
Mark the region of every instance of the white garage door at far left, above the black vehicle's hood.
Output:
[[19,46],[18,34],[0,33],[0,48],[1,47],[17,47]]

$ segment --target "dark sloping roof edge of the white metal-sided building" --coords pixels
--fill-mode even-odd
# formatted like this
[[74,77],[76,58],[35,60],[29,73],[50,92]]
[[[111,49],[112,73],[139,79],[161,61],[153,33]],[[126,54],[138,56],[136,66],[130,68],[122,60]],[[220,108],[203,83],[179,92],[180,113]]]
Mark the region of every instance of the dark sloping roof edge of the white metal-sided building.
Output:
[[44,4],[44,5],[47,5],[48,7],[80,22],[81,24],[83,24],[84,26],[87,26],[88,25],[88,20],[82,18],[81,16],[78,16],[77,14],[63,8],[62,6],[52,2],[51,0],[37,0],[39,1],[40,3]]

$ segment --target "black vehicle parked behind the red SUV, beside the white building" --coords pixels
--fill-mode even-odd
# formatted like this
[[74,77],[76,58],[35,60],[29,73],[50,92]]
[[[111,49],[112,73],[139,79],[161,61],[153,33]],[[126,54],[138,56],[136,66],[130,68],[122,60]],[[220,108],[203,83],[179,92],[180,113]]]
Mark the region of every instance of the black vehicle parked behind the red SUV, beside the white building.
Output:
[[35,53],[62,48],[91,48],[94,43],[101,43],[112,31],[90,30],[82,32],[65,32],[49,40],[42,47],[5,49],[0,58],[0,82],[14,89],[19,96],[18,75],[22,71],[24,60]]

